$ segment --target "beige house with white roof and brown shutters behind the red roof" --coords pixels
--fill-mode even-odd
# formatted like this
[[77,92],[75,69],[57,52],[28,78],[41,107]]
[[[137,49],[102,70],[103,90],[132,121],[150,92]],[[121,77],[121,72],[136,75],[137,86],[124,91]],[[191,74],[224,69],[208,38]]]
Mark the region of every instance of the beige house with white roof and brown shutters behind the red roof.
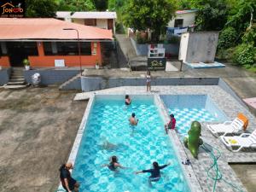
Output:
[[75,12],[71,19],[74,23],[84,26],[96,26],[102,29],[111,29],[115,34],[116,12]]

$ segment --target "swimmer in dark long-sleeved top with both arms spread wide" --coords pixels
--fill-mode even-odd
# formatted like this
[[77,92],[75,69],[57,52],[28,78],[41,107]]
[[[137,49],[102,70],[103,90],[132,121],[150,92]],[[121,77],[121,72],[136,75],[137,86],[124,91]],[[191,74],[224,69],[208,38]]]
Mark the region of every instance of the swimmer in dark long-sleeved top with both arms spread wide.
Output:
[[159,166],[158,162],[153,162],[153,169],[143,170],[139,172],[135,172],[135,174],[144,173],[144,172],[150,172],[151,176],[148,177],[148,182],[151,184],[151,182],[157,182],[159,181],[161,175],[160,175],[160,169],[166,168],[166,166],[171,165],[171,163],[167,163],[164,166]]

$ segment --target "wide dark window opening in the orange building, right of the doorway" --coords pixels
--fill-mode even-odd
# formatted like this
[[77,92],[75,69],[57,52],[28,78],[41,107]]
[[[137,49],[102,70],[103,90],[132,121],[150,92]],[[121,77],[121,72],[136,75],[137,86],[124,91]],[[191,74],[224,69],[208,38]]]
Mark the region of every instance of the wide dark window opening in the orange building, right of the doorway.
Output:
[[[80,42],[81,55],[91,55],[90,42]],[[79,55],[78,42],[44,42],[44,55]]]

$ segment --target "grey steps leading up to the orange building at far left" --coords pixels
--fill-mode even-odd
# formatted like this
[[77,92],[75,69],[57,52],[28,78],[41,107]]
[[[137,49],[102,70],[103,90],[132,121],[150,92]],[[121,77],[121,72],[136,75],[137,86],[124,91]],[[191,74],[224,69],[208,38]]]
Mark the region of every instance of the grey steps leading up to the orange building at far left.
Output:
[[12,67],[9,82],[4,84],[3,88],[9,90],[19,90],[26,88],[28,84],[25,82],[23,69],[23,67]]

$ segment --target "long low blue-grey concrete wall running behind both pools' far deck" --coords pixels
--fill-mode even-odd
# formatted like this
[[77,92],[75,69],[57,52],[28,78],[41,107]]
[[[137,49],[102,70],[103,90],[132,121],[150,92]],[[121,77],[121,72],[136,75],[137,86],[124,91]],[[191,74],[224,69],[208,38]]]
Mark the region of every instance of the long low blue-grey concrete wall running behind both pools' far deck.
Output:
[[[217,85],[218,78],[156,78],[151,85]],[[119,86],[146,86],[143,78],[82,77],[83,91],[102,90]]]

